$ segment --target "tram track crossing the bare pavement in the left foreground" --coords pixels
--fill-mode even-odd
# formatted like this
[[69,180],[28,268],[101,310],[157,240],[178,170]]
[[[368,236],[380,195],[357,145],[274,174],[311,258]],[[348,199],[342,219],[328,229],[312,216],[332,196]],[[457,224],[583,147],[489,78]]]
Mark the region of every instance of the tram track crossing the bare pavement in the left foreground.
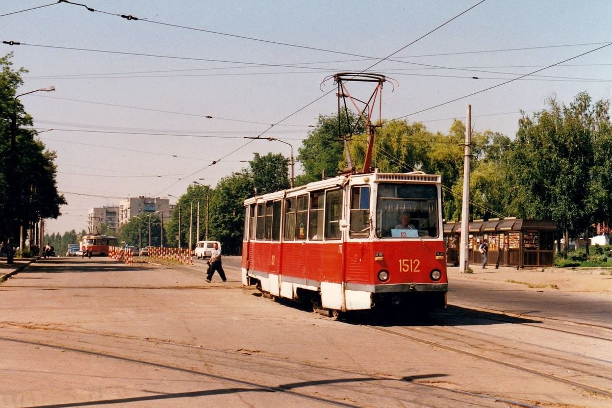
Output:
[[[241,385],[242,387],[252,387],[256,390],[267,391],[267,392],[276,392],[283,393],[295,398],[305,399],[306,401],[323,403],[324,405],[329,406],[337,406],[344,408],[362,408],[362,407],[370,407],[370,406],[378,406],[371,404],[354,404],[349,402],[335,401],[332,397],[324,397],[317,395],[310,395],[306,392],[296,391],[295,388],[299,388],[301,384],[307,385],[328,385],[328,384],[367,384],[368,382],[375,383],[375,388],[371,389],[373,396],[379,395],[381,398],[384,395],[389,393],[400,393],[406,394],[406,401],[409,401],[413,397],[409,395],[411,389],[417,387],[422,388],[424,390],[436,390],[438,393],[447,394],[447,395],[455,395],[457,397],[448,397],[445,399],[444,397],[432,397],[434,400],[439,399],[440,401],[435,404],[428,404],[431,407],[439,407],[446,408],[447,406],[452,406],[453,401],[457,402],[455,398],[476,398],[482,401],[490,401],[493,404],[498,402],[502,402],[504,404],[508,404],[508,406],[518,406],[523,408],[536,408],[537,405],[532,405],[524,401],[513,401],[511,399],[501,398],[498,396],[491,395],[483,395],[482,393],[470,392],[460,389],[453,389],[447,387],[441,387],[435,384],[427,384],[420,383],[418,380],[427,379],[427,376],[416,376],[416,377],[394,377],[394,376],[385,376],[381,374],[373,374],[373,373],[365,373],[362,371],[356,371],[352,369],[341,369],[341,368],[333,368],[333,367],[322,367],[321,365],[316,365],[307,362],[299,362],[299,361],[288,361],[285,358],[272,357],[268,355],[259,354],[258,351],[248,351],[241,349],[239,351],[224,351],[218,349],[211,349],[209,347],[197,346],[195,344],[188,343],[180,343],[176,341],[170,341],[165,339],[155,339],[155,338],[147,338],[142,339],[135,336],[129,335],[119,335],[117,333],[99,333],[99,332],[90,332],[88,330],[65,330],[62,328],[53,328],[45,325],[44,327],[36,327],[33,325],[21,325],[11,322],[1,322],[0,325],[4,325],[5,327],[13,327],[13,328],[21,328],[21,329],[29,329],[32,331],[37,330],[45,330],[54,331],[59,334],[56,341],[49,341],[45,339],[44,341],[41,339],[16,339],[9,338],[6,336],[0,336],[0,341],[12,341],[15,343],[21,343],[25,345],[35,346],[35,347],[49,347],[52,349],[58,349],[60,351],[65,352],[76,352],[79,354],[86,354],[95,356],[97,358],[107,358],[111,360],[118,360],[121,362],[134,363],[138,365],[151,366],[155,369],[165,369],[170,371],[177,371],[180,373],[193,374],[195,376],[206,377],[208,379],[220,380],[222,382],[228,382],[231,384]],[[84,341],[83,338],[80,338],[72,343],[69,338],[65,336],[65,333],[72,333],[72,335],[80,336],[103,336],[103,337],[111,337],[118,339],[120,342],[127,341],[129,343],[139,343],[132,344],[130,349],[141,351],[143,347],[155,347],[157,349],[155,354],[147,354],[147,358],[135,358],[129,357],[128,355],[122,355],[123,353],[119,352],[118,349],[121,347],[111,347],[111,351],[103,351],[97,346],[97,341]],[[66,343],[66,344],[62,344]],[[142,344],[146,344],[147,346],[143,346]],[[163,353],[160,353],[159,345],[164,346]],[[168,348],[170,347],[170,348]],[[201,371],[200,369],[194,369],[189,367],[189,363],[185,363],[184,365],[177,364],[168,364],[157,361],[157,359],[152,358],[154,355],[163,354],[165,358],[170,355],[184,355],[184,350],[189,349],[195,352],[198,355],[201,355],[203,352],[206,352],[206,357],[211,358],[216,361],[214,369],[207,369],[206,371]],[[182,350],[178,351],[178,350]],[[132,354],[128,352],[127,354]],[[212,355],[211,355],[212,354]],[[219,356],[222,356],[221,358]],[[207,364],[209,367],[210,363]],[[290,379],[292,382],[286,384],[286,382],[279,382],[277,385],[267,385],[261,384],[259,382],[254,382],[252,380],[248,380],[248,375],[246,376],[227,376],[224,374],[213,374],[212,371],[218,371],[220,366],[227,365],[231,369],[236,368],[237,365],[241,366],[241,369],[244,370],[245,373],[253,374],[257,372],[261,373],[270,373],[274,371],[278,371],[281,369],[283,373],[286,375],[278,376],[279,379],[283,380]],[[305,373],[308,373],[305,375]],[[293,378],[291,378],[293,377]],[[307,378],[304,378],[307,377]],[[435,376],[434,376],[435,377]],[[324,391],[318,390],[315,392],[319,395],[324,395]],[[461,399],[460,402],[465,403],[466,401]],[[482,405],[482,403],[472,402],[473,406],[488,406]],[[64,407],[62,404],[53,404],[53,407]],[[73,404],[67,404],[65,407],[75,406]],[[419,405],[420,406],[420,405]],[[491,407],[494,405],[491,405]],[[47,406],[37,406],[31,408],[46,408]],[[51,407],[51,406],[49,406]]]

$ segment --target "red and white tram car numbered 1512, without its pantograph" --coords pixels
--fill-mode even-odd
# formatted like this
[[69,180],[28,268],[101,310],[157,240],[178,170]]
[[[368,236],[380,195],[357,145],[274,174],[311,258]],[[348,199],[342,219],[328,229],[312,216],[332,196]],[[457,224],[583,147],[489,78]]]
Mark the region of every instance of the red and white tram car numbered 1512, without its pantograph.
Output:
[[441,176],[350,174],[244,206],[244,285],[329,314],[446,307]]

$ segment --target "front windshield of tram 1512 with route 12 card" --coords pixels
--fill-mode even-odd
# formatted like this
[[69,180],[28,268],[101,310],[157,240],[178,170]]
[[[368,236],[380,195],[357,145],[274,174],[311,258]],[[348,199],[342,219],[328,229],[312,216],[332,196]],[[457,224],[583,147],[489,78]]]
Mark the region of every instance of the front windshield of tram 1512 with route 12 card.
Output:
[[427,184],[378,185],[376,236],[437,238],[438,188]]

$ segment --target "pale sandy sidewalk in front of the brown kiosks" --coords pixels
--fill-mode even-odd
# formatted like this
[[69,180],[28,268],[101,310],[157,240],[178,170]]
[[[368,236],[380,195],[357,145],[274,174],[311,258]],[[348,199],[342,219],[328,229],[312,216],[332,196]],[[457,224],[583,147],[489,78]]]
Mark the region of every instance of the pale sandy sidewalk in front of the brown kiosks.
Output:
[[458,266],[447,267],[449,284],[453,280],[491,281],[509,285],[509,289],[534,291],[602,292],[612,295],[611,269],[539,268],[519,269],[494,265],[482,269],[470,265],[473,273],[460,273]]

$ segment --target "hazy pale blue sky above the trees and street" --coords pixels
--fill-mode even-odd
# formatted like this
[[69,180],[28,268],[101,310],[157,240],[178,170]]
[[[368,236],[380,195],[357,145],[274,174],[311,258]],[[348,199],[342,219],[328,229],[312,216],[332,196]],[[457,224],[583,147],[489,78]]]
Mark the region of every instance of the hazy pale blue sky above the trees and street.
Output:
[[192,180],[214,187],[254,152],[289,156],[286,144],[244,136],[304,108],[264,135],[297,155],[308,125],[337,107],[333,92],[320,98],[332,89],[328,81],[321,91],[321,81],[398,50],[371,69],[399,84],[384,88],[383,118],[407,116],[435,132],[463,119],[468,103],[477,131],[512,137],[519,111],[550,97],[610,99],[612,46],[461,98],[612,42],[608,1],[487,0],[425,35],[478,2],[80,0],[90,12],[3,0],[0,39],[23,45],[1,44],[0,53],[29,70],[19,93],[56,87],[20,98],[34,127],[54,129],[40,138],[57,152],[69,205],[48,231],[80,231],[89,208],[116,197],[174,202]]

